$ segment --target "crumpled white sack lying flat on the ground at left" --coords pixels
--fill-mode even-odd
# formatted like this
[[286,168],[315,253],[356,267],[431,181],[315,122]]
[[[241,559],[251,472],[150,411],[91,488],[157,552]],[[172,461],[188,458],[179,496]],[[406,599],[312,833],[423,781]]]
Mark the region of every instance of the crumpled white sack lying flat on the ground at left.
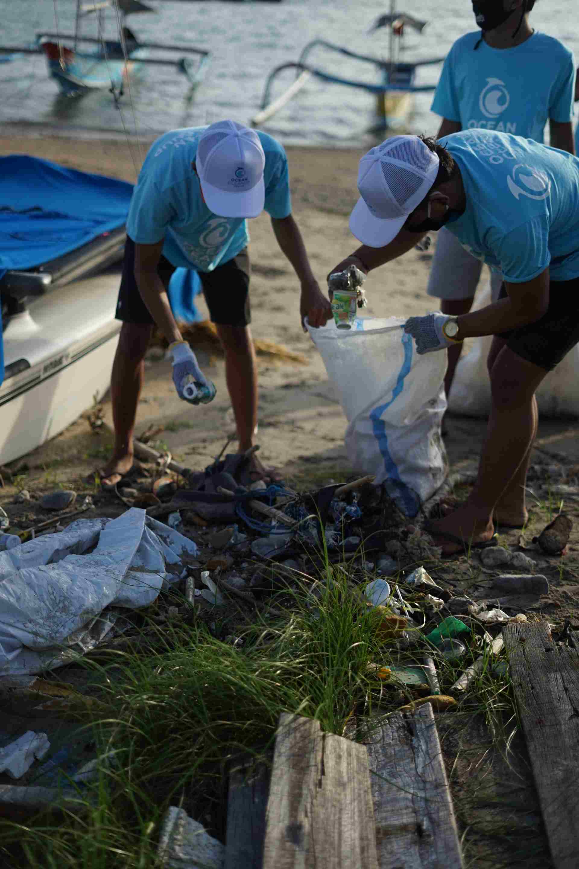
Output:
[[197,554],[136,507],[0,553],[0,680],[62,667],[110,638],[122,610],[147,607]]

